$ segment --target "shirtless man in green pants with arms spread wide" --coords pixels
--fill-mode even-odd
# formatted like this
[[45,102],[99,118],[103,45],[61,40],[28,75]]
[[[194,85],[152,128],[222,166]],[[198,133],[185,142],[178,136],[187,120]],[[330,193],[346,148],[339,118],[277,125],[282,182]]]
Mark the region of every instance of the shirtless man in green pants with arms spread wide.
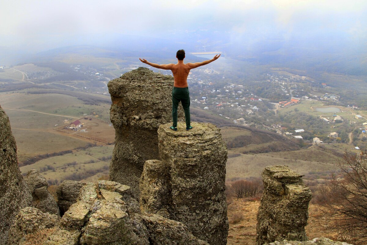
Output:
[[183,59],[185,58],[185,50],[180,49],[176,53],[177,64],[167,64],[167,65],[159,65],[152,62],[149,62],[145,59],[139,58],[139,60],[145,64],[153,66],[155,68],[171,70],[173,73],[174,84],[172,89],[172,120],[173,125],[170,129],[177,131],[177,107],[178,103],[181,101],[183,111],[185,112],[185,120],[186,120],[186,130],[192,129],[190,125],[190,93],[189,87],[187,85],[187,76],[191,69],[197,68],[202,65],[209,64],[217,60],[221,56],[220,54],[215,55],[211,60],[206,60],[203,62],[196,63],[183,63]]

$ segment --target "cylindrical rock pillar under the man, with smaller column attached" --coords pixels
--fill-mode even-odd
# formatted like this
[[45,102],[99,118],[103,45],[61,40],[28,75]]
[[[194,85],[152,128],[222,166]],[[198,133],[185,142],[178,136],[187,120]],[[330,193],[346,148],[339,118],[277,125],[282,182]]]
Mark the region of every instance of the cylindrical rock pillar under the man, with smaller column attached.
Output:
[[141,177],[141,209],[185,224],[209,244],[226,244],[228,235],[225,197],[227,147],[211,123],[192,123],[186,131],[158,129],[162,161],[146,161]]

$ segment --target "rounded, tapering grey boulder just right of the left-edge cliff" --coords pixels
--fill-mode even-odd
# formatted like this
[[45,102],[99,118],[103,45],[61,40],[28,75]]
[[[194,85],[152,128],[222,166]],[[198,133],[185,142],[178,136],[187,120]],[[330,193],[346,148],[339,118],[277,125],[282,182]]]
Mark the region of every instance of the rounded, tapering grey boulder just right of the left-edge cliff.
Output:
[[48,192],[48,183],[45,177],[39,174],[38,170],[30,169],[24,180],[28,184],[32,194],[33,206],[44,213],[51,213],[60,216],[59,207],[54,197]]

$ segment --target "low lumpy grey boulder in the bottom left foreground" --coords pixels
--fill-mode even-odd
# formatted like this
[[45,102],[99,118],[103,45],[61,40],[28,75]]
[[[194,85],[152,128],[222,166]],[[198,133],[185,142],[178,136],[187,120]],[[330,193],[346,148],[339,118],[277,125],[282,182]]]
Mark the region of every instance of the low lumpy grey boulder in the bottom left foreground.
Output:
[[23,208],[15,217],[15,223],[10,228],[9,244],[22,244],[26,235],[54,228],[59,220],[59,216],[43,213],[37,208]]

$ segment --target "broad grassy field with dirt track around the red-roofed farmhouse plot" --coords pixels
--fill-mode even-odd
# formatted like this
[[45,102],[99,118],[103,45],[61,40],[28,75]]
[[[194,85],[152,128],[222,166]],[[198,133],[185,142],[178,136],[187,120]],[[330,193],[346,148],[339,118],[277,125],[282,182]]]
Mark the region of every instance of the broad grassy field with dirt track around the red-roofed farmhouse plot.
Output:
[[[76,97],[64,94],[1,93],[0,105],[9,116],[17,141],[19,162],[30,156],[75,149],[96,142],[53,130],[64,125],[65,119],[72,122],[83,114],[94,112],[94,116],[109,122],[110,104],[86,105]],[[100,132],[98,134],[106,140],[113,141],[114,129],[107,122],[98,123],[93,130],[95,134]],[[101,130],[99,126],[102,126]]]

